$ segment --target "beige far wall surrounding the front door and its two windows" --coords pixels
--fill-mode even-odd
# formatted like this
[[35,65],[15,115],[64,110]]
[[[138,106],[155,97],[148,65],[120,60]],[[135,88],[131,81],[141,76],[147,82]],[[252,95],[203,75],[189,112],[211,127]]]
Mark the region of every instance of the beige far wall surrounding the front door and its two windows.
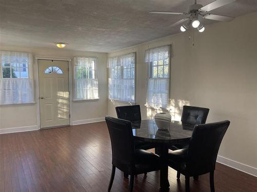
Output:
[[[4,45],[0,45],[0,50],[30,52],[33,56],[45,55],[49,57],[69,58],[74,56],[97,57],[99,69],[99,100],[73,102],[73,110],[70,113],[73,114],[73,121],[77,122],[79,120],[102,118],[107,114],[106,53]],[[35,63],[33,63],[33,65],[35,65]],[[0,106],[0,130],[13,127],[34,126],[36,124],[36,104]]]

